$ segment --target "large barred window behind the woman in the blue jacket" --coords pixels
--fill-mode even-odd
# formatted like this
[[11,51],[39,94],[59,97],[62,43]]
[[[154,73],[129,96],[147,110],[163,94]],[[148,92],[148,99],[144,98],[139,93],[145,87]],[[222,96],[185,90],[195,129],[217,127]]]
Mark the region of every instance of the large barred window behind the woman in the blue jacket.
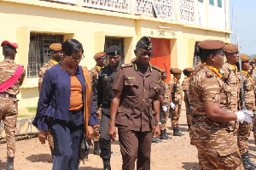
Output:
[[27,77],[38,77],[40,68],[51,58],[49,45],[52,43],[63,42],[64,35],[31,33],[28,52]]

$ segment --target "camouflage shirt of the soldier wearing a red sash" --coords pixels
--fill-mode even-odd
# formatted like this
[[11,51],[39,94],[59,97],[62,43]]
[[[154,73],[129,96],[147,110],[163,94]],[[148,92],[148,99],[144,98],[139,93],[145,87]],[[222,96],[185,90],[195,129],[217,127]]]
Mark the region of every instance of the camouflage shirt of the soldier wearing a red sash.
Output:
[[[3,59],[2,62],[0,62],[0,84],[7,81],[9,77],[12,77],[15,74],[15,71],[17,70],[18,65],[15,63],[12,59]],[[6,94],[12,94],[17,95],[20,93],[20,86],[22,85],[22,82],[24,81],[24,78],[26,76],[25,69],[21,73],[20,78],[13,84],[10,88],[6,89],[4,93]]]

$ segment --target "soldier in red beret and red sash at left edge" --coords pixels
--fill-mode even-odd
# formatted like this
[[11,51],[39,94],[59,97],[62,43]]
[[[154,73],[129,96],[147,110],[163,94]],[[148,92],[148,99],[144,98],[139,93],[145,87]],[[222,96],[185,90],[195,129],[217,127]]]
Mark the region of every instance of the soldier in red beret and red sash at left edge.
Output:
[[16,95],[26,76],[23,66],[15,64],[17,43],[3,41],[3,61],[0,62],[0,121],[3,119],[7,142],[6,169],[14,169],[15,158],[15,128],[18,115]]

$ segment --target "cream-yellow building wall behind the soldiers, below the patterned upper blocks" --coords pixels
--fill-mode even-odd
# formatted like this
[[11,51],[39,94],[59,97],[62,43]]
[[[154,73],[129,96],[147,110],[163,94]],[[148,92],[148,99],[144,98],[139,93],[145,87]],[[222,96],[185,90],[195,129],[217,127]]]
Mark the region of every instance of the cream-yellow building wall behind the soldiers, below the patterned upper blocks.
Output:
[[[178,17],[177,17],[178,18]],[[121,14],[94,8],[37,0],[0,2],[0,41],[18,42],[15,62],[27,68],[30,33],[63,34],[64,39],[82,42],[85,58],[80,65],[95,65],[94,54],[104,50],[105,37],[125,37],[125,63],[134,57],[133,50],[143,36],[170,40],[171,67],[184,69],[193,64],[195,42],[219,39],[230,42],[229,30],[218,30],[191,23],[157,19],[145,15]],[[198,21],[196,20],[195,23]],[[0,49],[2,54],[2,48]],[[3,60],[3,56],[0,56]],[[184,62],[185,61],[185,62]],[[19,107],[38,103],[38,78],[26,78],[18,95]]]

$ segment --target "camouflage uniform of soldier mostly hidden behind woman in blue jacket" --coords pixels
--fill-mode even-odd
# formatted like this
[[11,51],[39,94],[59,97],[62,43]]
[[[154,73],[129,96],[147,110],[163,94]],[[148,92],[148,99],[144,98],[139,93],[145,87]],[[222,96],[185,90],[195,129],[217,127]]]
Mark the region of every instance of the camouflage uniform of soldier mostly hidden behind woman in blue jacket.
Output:
[[[38,76],[38,91],[40,93],[41,90],[41,85],[43,82],[43,78],[44,78],[44,74],[45,71],[47,71],[50,67],[54,66],[55,64],[51,61],[51,59],[48,61],[48,63],[46,63],[45,65],[43,65],[39,71],[39,76]],[[47,140],[49,143],[49,149],[50,150],[54,150],[54,139],[53,136],[51,134],[50,129],[47,130]]]

